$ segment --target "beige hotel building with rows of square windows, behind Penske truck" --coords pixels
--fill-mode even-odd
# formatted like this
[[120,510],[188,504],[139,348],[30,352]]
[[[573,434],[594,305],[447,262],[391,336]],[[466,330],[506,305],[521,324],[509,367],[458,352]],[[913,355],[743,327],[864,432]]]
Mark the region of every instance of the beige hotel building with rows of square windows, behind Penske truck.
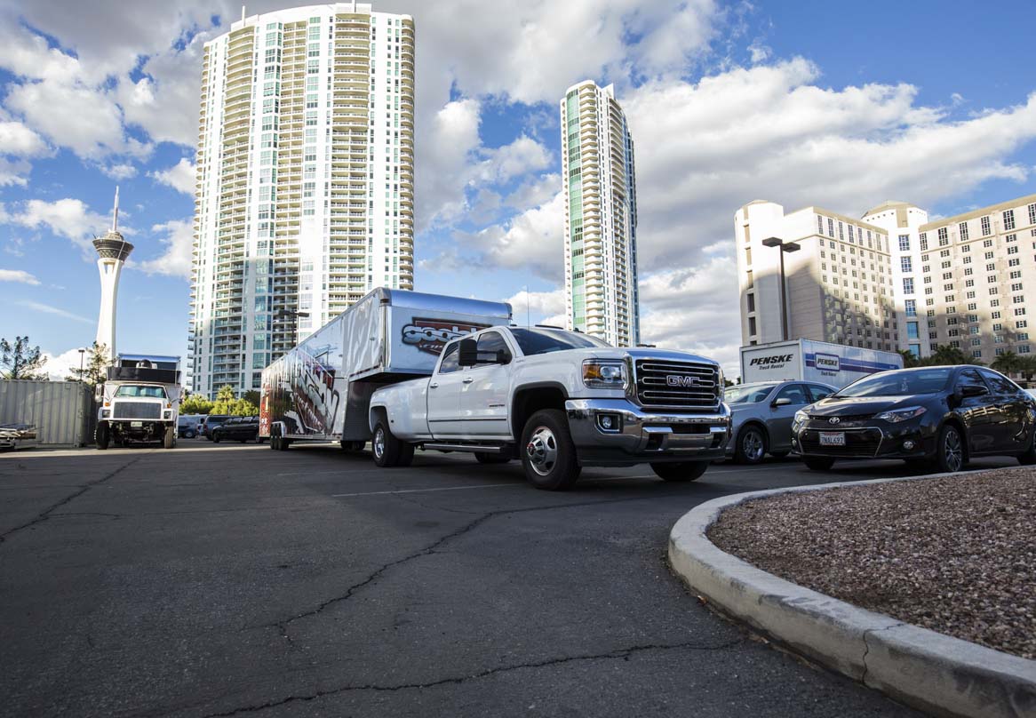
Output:
[[780,339],[779,250],[761,245],[770,236],[802,248],[785,254],[793,339],[918,356],[944,345],[986,364],[1033,353],[1026,288],[1036,289],[1036,195],[936,222],[905,202],[862,220],[745,205],[735,219],[744,344]]

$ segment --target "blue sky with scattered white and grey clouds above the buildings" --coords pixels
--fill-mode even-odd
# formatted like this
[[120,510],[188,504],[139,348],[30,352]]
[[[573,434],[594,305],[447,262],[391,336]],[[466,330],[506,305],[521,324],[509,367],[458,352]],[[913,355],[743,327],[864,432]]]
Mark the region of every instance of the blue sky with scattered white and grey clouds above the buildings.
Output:
[[[375,9],[418,26],[420,291],[564,311],[557,99],[586,78],[615,84],[636,143],[644,341],[728,367],[741,204],[946,216],[1036,193],[1031,1]],[[98,304],[87,242],[118,183],[136,246],[119,349],[185,352],[200,46],[237,13],[0,0],[0,336],[78,362]]]

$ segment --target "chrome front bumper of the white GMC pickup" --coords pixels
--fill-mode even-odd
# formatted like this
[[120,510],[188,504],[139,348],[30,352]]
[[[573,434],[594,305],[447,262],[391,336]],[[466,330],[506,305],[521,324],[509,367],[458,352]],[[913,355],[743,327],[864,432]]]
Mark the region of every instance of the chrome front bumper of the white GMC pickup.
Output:
[[[722,459],[730,437],[727,410],[712,413],[645,411],[625,399],[565,402],[572,440],[585,466]],[[610,418],[612,428],[602,421]]]

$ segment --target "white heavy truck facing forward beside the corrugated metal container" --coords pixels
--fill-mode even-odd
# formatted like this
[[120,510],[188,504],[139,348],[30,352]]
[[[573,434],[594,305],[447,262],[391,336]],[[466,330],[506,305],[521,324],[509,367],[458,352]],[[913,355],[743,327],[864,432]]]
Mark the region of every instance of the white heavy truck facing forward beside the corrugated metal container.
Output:
[[179,356],[117,355],[96,389],[97,449],[131,441],[173,449],[181,397]]

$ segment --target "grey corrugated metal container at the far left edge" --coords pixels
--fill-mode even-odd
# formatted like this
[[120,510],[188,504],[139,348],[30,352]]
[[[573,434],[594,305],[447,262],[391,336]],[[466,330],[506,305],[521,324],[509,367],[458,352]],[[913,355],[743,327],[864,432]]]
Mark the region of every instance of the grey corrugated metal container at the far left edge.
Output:
[[93,441],[90,387],[79,381],[0,381],[0,425],[36,427],[44,447],[83,447]]

